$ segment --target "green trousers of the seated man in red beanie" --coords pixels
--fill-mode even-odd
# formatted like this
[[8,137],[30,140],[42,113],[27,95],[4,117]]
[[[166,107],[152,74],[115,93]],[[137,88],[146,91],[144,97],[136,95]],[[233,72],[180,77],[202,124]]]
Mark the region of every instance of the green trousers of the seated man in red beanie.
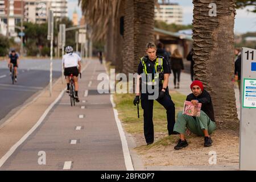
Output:
[[192,133],[200,136],[204,136],[203,129],[208,130],[209,134],[216,129],[215,122],[211,121],[207,114],[201,110],[200,117],[195,117],[182,114],[180,111],[177,114],[177,119],[174,125],[174,131],[180,134],[185,134],[185,129],[187,127]]

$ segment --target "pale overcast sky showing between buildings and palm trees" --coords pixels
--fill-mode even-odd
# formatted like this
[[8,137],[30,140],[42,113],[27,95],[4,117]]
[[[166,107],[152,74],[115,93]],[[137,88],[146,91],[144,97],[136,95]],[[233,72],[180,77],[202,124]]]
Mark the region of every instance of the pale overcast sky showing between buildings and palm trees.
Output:
[[[183,7],[183,24],[192,23],[193,19],[193,3],[192,0],[170,0],[170,2],[177,2]],[[76,9],[79,14],[79,19],[82,16],[81,8],[77,6],[78,0],[68,0],[68,16],[72,19],[73,11]],[[248,8],[246,8],[248,9]],[[237,10],[235,19],[235,32],[245,33],[248,31],[256,31],[256,13],[248,13],[246,9]],[[249,7],[254,9],[254,7]]]

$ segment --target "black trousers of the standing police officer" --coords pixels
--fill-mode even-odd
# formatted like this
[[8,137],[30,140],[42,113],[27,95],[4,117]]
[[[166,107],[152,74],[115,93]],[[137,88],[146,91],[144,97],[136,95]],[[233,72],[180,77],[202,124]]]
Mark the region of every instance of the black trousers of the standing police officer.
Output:
[[[170,135],[174,131],[175,124],[175,105],[171,99],[168,89],[162,99],[157,99],[164,108],[167,114],[167,129]],[[143,109],[144,117],[144,137],[147,143],[154,142],[154,124],[153,124],[153,105],[154,100],[143,99],[141,100],[141,106]]]

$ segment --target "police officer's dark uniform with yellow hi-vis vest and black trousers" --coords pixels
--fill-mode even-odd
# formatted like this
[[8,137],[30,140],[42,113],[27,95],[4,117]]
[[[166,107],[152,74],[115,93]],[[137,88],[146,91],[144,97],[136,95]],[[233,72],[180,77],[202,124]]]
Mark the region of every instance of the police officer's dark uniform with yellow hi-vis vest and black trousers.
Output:
[[[158,77],[160,93],[160,91],[163,89],[163,75],[167,73],[170,73],[170,71],[168,68],[168,63],[166,59],[164,59],[164,57],[156,56],[156,59],[154,61],[148,59],[148,56],[144,56],[141,58],[141,61],[138,66],[138,75],[152,74],[151,77],[147,78],[146,83],[142,81],[142,87],[143,84],[149,85],[150,83],[153,83],[152,85],[154,85],[154,80],[156,77]],[[147,143],[152,143],[154,142],[154,124],[152,120],[154,100],[149,100],[149,95],[150,93],[148,93],[147,89],[146,93],[141,93],[141,106],[143,109],[144,117],[144,137]],[[156,101],[158,101],[159,104],[164,106],[164,108],[166,109],[168,134],[173,134],[175,124],[175,105],[174,102],[171,100],[168,86],[166,88],[164,97],[160,99],[158,98],[156,99]]]

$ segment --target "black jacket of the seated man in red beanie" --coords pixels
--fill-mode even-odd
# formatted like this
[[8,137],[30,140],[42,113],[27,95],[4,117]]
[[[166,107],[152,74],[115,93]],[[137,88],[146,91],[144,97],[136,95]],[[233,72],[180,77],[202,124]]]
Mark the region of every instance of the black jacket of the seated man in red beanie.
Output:
[[207,92],[207,90],[204,90],[200,96],[196,97],[193,93],[189,94],[187,96],[186,101],[192,101],[197,100],[199,103],[202,104],[201,110],[204,111],[205,114],[208,115],[210,120],[215,122],[214,119],[214,110],[212,105],[212,98],[210,97],[210,94]]

